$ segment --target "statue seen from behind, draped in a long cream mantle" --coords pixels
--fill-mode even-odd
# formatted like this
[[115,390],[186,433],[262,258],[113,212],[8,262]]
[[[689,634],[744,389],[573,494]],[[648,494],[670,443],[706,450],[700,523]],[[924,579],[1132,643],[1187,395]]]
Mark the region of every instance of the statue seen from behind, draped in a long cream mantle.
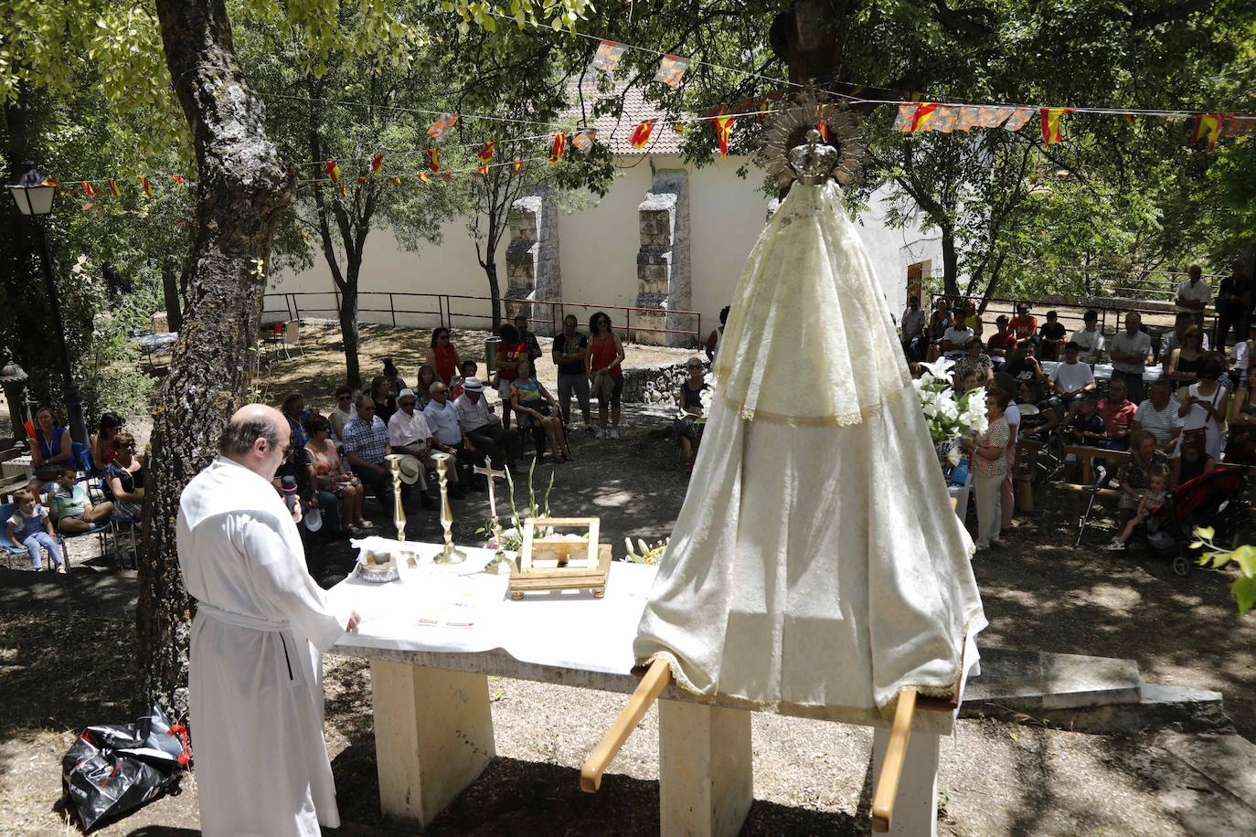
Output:
[[785,154],[794,183],[737,284],[633,646],[685,689],[765,709],[950,696],[986,624],[973,543],[833,178],[849,158],[818,132]]

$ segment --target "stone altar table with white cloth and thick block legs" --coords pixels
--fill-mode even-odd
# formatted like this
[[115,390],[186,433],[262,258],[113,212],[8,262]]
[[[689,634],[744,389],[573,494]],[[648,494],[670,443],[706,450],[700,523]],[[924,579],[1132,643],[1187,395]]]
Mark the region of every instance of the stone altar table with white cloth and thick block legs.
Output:
[[[329,591],[363,616],[358,631],[345,634],[332,653],[371,661],[379,804],[384,814],[422,828],[496,753],[489,675],[632,693],[632,642],[656,568],[612,563],[604,599],[565,591],[511,601],[505,577],[479,572],[491,557],[487,550],[460,547],[467,561],[443,567],[431,563],[438,545],[406,548],[417,552],[420,565],[399,581],[381,585],[350,575]],[[754,801],[752,710],[674,685],[663,691],[662,834],[722,837],[740,831]],[[873,727],[879,774],[888,719],[840,706],[782,705],[779,713]],[[608,727],[612,720],[607,718]],[[891,833],[936,833],[938,738],[948,735],[953,723],[953,713],[917,713]]]

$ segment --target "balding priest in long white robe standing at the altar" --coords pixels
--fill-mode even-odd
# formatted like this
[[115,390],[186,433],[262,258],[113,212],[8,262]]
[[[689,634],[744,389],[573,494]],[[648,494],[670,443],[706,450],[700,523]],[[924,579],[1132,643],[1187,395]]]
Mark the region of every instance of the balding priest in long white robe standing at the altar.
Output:
[[208,837],[340,824],[322,653],[358,615],[337,609],[310,577],[293,513],[271,484],[290,443],[278,410],[244,407],[222,433],[221,456],[180,498],[178,563],[197,602],[192,748]]

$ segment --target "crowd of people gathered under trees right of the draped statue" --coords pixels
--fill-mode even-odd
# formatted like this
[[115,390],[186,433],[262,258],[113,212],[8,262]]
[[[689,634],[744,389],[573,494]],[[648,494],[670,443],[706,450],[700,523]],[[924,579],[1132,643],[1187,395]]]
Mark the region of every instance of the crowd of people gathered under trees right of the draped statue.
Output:
[[[1055,311],[1042,325],[1029,305],[999,316],[982,341],[983,326],[971,301],[939,299],[926,317],[916,297],[903,314],[902,349],[908,361],[953,360],[957,390],[985,387],[990,429],[963,440],[977,506],[978,550],[999,546],[1011,525],[1011,468],[1020,439],[1051,440],[1120,452],[1104,461],[1095,453],[1100,484],[1115,481],[1123,531],[1109,545],[1124,550],[1135,526],[1164,507],[1178,486],[1221,464],[1256,467],[1256,368],[1248,358],[1246,324],[1230,323],[1240,338],[1231,349],[1211,351],[1197,312],[1179,311],[1159,351],[1128,312],[1109,341],[1086,311],[1083,328],[1068,333]],[[1218,343],[1225,348],[1223,338]],[[1105,380],[1095,375],[1104,366]],[[1149,384],[1147,368],[1161,364]],[[913,374],[921,368],[912,363]],[[1021,407],[1029,405],[1025,413]],[[1127,456],[1128,454],[1128,456]]]

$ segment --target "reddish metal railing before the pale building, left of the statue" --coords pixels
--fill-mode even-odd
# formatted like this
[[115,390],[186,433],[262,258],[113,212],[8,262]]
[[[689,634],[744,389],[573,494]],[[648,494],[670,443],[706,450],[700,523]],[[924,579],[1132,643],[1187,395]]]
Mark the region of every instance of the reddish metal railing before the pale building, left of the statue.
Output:
[[[322,299],[310,299],[322,297]],[[414,305],[425,307],[409,307],[411,302]],[[481,305],[467,305],[481,304]],[[575,310],[589,312],[589,311],[605,311],[608,316],[612,317],[612,328],[615,331],[623,334],[623,338],[629,343],[637,343],[634,338],[638,334],[663,334],[663,335],[683,335],[688,336],[693,346],[702,345],[702,312],[693,310],[667,310],[661,311],[661,309],[641,307],[633,305],[602,305],[597,302],[569,302],[566,300],[556,301],[533,301],[533,300],[507,300],[502,299],[502,312],[504,319],[506,319],[507,306],[528,306],[526,310],[530,311],[529,320],[531,320],[533,330],[538,334],[555,334],[561,330],[561,323],[569,312]],[[456,328],[474,328],[475,330],[489,331],[492,326],[492,314],[491,314],[492,299],[489,296],[472,296],[466,294],[420,294],[412,291],[358,291],[358,315],[363,314],[386,314],[387,320],[391,325],[414,325],[414,326],[445,326],[447,329]],[[435,307],[433,307],[435,306]],[[479,309],[479,310],[472,310]],[[614,320],[617,319],[612,312],[619,311],[623,314],[623,324],[617,325]],[[664,326],[657,328],[651,325],[633,325],[633,314],[637,314],[638,321],[642,314],[648,316],[662,316],[664,317]],[[261,321],[274,323],[278,320],[301,320],[310,316],[328,316],[332,319],[339,317],[340,315],[340,292],[339,291],[283,291],[266,294],[263,300]],[[398,323],[398,315],[402,316],[402,323]],[[427,317],[423,323],[414,323],[414,319]],[[669,329],[666,326],[667,320],[672,317],[692,317],[692,329]],[[587,317],[578,317],[585,319]],[[408,321],[407,321],[408,320]],[[468,325],[470,324],[470,325]],[[587,323],[584,323],[587,325]],[[543,328],[536,328],[543,326]]]

